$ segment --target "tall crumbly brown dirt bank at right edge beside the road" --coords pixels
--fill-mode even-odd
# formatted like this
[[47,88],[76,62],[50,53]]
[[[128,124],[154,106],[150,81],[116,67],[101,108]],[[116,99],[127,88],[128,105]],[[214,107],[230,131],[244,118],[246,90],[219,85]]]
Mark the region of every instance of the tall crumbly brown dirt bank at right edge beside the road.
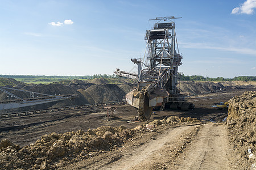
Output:
[[230,99],[227,120],[237,169],[256,169],[256,91]]

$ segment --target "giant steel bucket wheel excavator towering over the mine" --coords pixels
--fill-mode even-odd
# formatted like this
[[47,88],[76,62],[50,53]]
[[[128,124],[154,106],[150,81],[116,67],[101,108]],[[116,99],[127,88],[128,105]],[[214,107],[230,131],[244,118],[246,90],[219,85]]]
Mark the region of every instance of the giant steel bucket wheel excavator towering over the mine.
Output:
[[[155,25],[154,29],[146,31],[143,59],[131,59],[138,66],[138,86],[126,95],[126,101],[137,108],[141,120],[148,120],[152,109],[156,107],[182,110],[195,107],[185,100],[177,88],[177,79],[181,75],[177,70],[183,57],[177,46],[174,19],[177,18],[169,16],[150,19],[155,21]],[[119,69],[114,73],[131,77],[131,74]]]

